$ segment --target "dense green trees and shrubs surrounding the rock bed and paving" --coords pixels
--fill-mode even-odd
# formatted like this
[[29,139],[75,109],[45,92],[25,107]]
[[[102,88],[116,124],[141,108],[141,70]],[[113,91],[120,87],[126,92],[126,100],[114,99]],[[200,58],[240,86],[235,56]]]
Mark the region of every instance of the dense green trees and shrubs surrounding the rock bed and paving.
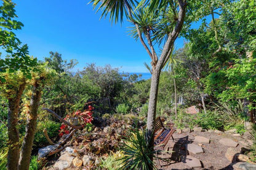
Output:
[[[129,2],[131,4],[126,7],[126,14],[134,8],[134,3]],[[161,4],[165,2],[169,4],[167,1],[159,1],[160,4],[155,5],[166,9],[177,7],[177,4],[186,1],[177,1],[177,4],[175,1],[168,6]],[[109,4],[103,4],[102,7],[104,5]],[[175,22],[164,21],[163,16],[166,15],[166,18],[170,17],[175,21],[179,18],[177,8],[174,8],[174,13],[159,12],[160,18],[157,21],[153,15],[148,15],[150,19],[144,20],[145,16],[142,15],[151,14],[150,9],[156,6],[148,4],[144,9],[142,4],[139,4],[138,7],[142,7],[143,11],[138,10],[138,14],[129,14],[127,17],[134,23],[132,33],[135,39],[141,38],[142,31],[146,37],[153,36],[147,39],[152,38],[153,42],[156,41],[160,46],[167,41],[166,34],[172,32],[175,26]],[[156,54],[151,48],[149,55],[153,58],[153,64],[151,67],[146,66],[153,78],[142,80],[141,75],[120,73],[118,68],[111,68],[110,65],[99,67],[94,63],[87,64],[81,71],[72,72],[77,61],[63,60],[58,52],[50,52],[44,61],[37,61],[28,55],[28,46],[22,45],[13,32],[23,26],[20,21],[15,20],[17,15],[14,4],[11,1],[3,1],[0,7],[0,46],[5,56],[1,53],[0,169],[6,168],[6,164],[8,169],[38,169],[36,156],[31,156],[31,153],[34,155],[33,151],[48,144],[42,131],[47,129],[53,141],[61,137],[58,132],[61,123],[42,110],[42,107],[49,108],[64,118],[78,110],[87,109],[85,103],[91,102],[95,107],[92,115],[95,120],[123,120],[132,117],[132,122],[127,122],[134,129],[138,127],[140,120],[141,124],[145,125],[150,111],[152,81],[155,81],[158,87],[156,104],[150,104],[150,108],[156,107],[153,117],[166,117],[167,122],[175,122],[178,128],[235,128],[238,133],[244,133],[245,122],[255,124],[256,2],[196,1],[187,6],[188,15],[184,19],[183,28],[178,31],[187,42],[183,48],[177,50],[170,47],[166,51],[168,55],[164,50],[161,54]],[[111,11],[111,8],[108,10],[114,19],[116,13]],[[206,16],[211,17],[210,22],[207,22]],[[201,23],[199,28],[191,28],[191,23],[195,21]],[[153,29],[155,25],[156,31]],[[146,29],[149,26],[150,31]],[[169,45],[172,46],[173,43]],[[158,66],[158,57],[159,60],[164,58],[161,66]],[[177,104],[178,99],[183,99],[183,102]],[[199,114],[187,114],[186,108],[190,106],[196,106]],[[93,125],[94,123],[97,122],[92,121]],[[92,126],[86,126],[84,129],[91,131]],[[119,169],[121,164],[127,168],[133,164],[148,167],[152,163],[150,154],[148,162],[138,163],[132,161],[132,157],[124,156],[122,151],[116,152],[120,148],[126,150],[126,146],[135,143],[149,149],[146,142],[148,139],[145,138],[147,131],[129,133],[135,136],[134,139],[124,140],[124,145],[115,145],[114,152],[105,150],[109,157],[102,159],[102,167]],[[255,138],[255,130],[252,134]],[[116,138],[116,141],[120,142],[121,139]],[[137,145],[129,149],[138,151],[140,147],[136,147]],[[151,153],[151,150],[147,150],[147,153]],[[255,161],[255,144],[249,155]],[[120,159],[124,160],[124,163],[121,163]]]

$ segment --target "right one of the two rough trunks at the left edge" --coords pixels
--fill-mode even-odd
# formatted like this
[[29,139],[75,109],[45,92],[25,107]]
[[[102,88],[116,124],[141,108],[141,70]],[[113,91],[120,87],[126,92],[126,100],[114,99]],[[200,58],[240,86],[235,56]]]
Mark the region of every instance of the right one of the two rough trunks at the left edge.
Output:
[[36,132],[36,120],[38,118],[38,107],[41,99],[42,90],[38,80],[34,83],[33,94],[30,100],[30,107],[26,122],[26,133],[23,139],[22,151],[18,162],[19,170],[28,170],[30,167],[30,156]]

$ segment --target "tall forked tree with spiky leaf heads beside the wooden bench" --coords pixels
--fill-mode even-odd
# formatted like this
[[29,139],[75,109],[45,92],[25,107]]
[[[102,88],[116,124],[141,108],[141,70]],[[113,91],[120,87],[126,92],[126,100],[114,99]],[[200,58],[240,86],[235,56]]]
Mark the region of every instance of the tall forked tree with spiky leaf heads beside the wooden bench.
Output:
[[[131,0],[92,0],[93,6],[102,9],[102,16],[110,15],[111,20],[122,21],[123,15],[134,25],[131,30],[135,39],[139,39],[151,58],[152,77],[150,101],[146,123],[147,141],[153,150],[154,119],[156,118],[156,103],[161,69],[166,64],[174,41],[182,30],[186,14],[186,0],[175,1],[142,1],[138,6]],[[163,45],[162,45],[163,44]],[[156,47],[162,45],[161,54],[156,53]],[[151,156],[153,159],[153,155]]]

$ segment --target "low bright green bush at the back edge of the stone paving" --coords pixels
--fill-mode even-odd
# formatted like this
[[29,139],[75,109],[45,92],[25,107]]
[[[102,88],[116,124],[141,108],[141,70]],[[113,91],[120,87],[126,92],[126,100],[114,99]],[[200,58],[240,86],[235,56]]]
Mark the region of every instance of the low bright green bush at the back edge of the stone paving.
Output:
[[196,123],[203,129],[223,129],[225,125],[222,115],[218,114],[218,112],[199,113]]

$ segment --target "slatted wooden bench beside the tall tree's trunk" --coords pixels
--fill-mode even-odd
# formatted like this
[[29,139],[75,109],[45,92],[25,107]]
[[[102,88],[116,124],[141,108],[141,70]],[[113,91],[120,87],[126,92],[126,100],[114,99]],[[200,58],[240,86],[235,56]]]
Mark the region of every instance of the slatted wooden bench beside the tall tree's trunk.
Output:
[[162,125],[161,117],[156,118],[156,122],[154,125],[154,147],[155,149],[164,150],[167,142],[169,141],[170,137],[174,140],[172,134],[176,129],[174,129],[174,123],[170,123],[169,128],[164,128]]

